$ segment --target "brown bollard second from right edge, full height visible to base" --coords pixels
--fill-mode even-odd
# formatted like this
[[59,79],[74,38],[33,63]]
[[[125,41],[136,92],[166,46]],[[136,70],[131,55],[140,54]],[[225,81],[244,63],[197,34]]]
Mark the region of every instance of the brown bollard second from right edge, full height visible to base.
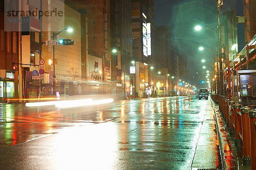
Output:
[[242,127],[242,140],[243,140],[243,165],[250,165],[250,119],[249,111],[252,108],[247,106],[241,108],[241,127]]

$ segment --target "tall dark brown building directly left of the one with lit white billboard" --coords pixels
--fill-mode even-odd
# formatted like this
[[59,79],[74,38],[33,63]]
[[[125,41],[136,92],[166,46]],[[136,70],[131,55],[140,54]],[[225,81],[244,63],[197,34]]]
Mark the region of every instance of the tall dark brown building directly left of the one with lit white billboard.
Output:
[[131,0],[110,1],[111,47],[118,49],[111,59],[112,78],[124,84],[124,94],[132,95],[130,65],[132,61]]

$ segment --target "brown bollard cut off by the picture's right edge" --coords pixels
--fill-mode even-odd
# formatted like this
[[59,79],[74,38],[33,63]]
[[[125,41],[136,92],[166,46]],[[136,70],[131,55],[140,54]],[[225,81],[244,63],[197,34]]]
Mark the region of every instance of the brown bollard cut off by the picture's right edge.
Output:
[[256,170],[256,109],[249,111],[251,169]]

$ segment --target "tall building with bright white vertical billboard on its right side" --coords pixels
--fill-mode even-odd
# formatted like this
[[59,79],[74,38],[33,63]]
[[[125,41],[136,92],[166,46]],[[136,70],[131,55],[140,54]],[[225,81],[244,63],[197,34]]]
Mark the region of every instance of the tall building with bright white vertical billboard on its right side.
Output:
[[154,31],[154,0],[132,0],[131,9],[133,58],[136,63],[140,62],[136,65],[134,92],[136,96],[145,97],[152,93],[148,85],[148,64],[151,60],[151,30]]

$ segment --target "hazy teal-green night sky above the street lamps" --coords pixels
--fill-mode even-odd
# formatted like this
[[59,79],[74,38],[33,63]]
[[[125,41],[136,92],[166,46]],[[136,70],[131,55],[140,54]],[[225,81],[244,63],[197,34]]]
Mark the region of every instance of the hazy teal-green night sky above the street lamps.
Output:
[[[225,0],[224,10],[234,8],[235,0]],[[215,0],[155,0],[156,25],[172,25],[172,41],[180,54],[186,54],[189,74],[210,70],[213,52],[199,51],[200,46],[215,48],[215,33],[207,29],[195,31],[201,25],[212,30],[217,28]],[[208,60],[205,64],[201,59]],[[203,69],[203,66],[206,69]]]

